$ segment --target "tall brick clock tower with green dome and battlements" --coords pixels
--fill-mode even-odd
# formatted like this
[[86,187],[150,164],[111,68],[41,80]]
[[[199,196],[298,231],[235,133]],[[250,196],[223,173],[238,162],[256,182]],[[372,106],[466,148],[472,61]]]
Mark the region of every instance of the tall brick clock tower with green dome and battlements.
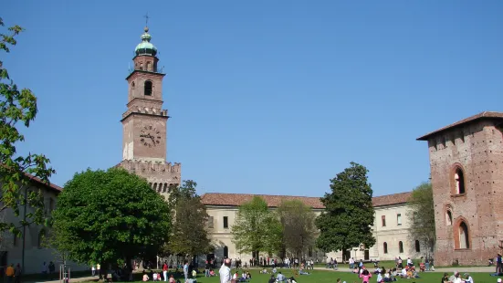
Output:
[[168,110],[162,110],[162,79],[157,48],[149,28],[135,49],[129,85],[128,110],[122,114],[122,162],[118,166],[147,179],[152,189],[167,196],[171,184],[180,184],[181,164],[166,162]]

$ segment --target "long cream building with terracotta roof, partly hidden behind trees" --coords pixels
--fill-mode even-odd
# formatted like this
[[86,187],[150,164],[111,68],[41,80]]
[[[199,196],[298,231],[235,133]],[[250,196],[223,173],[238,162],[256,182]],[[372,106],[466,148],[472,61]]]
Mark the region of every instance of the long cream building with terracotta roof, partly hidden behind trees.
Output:
[[[217,194],[210,193],[202,196],[202,202],[208,213],[208,232],[215,246],[215,251],[209,257],[241,258],[248,261],[251,254],[241,254],[232,242],[231,227],[235,222],[239,205],[250,201],[255,194]],[[299,200],[309,205],[316,215],[324,210],[319,197],[287,196],[287,195],[258,195],[263,198],[271,210],[278,207],[283,201]],[[345,255],[339,252],[328,254],[306,249],[305,255],[318,258],[319,261],[327,257],[337,258],[338,261],[348,257],[364,260],[393,260],[395,257],[418,258],[425,255],[421,245],[408,234],[410,209],[406,204],[410,193],[389,194],[377,196],[372,199],[375,208],[373,235],[376,245],[369,248],[355,246]],[[384,219],[384,221],[382,221]],[[261,255],[265,256],[265,255]]]

